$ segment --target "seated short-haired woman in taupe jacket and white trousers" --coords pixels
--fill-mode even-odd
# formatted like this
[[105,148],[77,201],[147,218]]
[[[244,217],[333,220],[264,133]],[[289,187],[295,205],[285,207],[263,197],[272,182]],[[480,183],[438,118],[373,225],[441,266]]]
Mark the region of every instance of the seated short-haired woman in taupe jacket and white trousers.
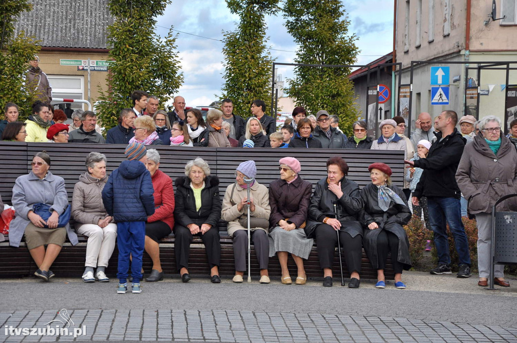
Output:
[[[95,282],[95,279],[100,282],[110,280],[104,271],[115,249],[117,225],[102,202],[101,192],[107,181],[106,156],[89,153],[86,157],[86,171],[79,176],[72,196],[75,231],[88,236],[84,263],[86,268],[82,276],[84,282]],[[95,278],[94,268],[97,268]]]

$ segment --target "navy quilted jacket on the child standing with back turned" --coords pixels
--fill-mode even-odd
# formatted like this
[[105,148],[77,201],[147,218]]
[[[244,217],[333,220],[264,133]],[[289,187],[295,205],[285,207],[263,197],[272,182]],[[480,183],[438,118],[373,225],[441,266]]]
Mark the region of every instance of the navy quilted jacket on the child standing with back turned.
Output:
[[155,213],[151,174],[139,161],[123,161],[102,190],[102,202],[115,221],[146,221]]

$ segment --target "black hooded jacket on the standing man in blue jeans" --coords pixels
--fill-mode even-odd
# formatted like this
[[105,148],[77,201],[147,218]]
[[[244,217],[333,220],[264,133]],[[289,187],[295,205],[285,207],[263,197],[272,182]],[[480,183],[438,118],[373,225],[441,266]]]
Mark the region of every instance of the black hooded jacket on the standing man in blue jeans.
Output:
[[456,183],[456,171],[465,148],[466,139],[457,128],[442,139],[442,132],[436,133],[427,158],[414,161],[416,168],[422,168],[422,176],[413,196],[444,197],[460,199],[461,192]]

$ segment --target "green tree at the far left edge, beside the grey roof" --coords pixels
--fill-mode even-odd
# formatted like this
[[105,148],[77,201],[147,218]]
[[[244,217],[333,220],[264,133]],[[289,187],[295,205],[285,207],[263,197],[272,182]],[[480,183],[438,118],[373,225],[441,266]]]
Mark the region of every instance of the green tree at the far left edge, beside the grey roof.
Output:
[[32,10],[27,0],[3,0],[0,2],[0,109],[3,112],[7,102],[14,102],[20,108],[20,120],[31,114],[34,91],[25,88],[28,61],[40,49],[35,37],[23,32],[14,35],[14,22],[22,12]]

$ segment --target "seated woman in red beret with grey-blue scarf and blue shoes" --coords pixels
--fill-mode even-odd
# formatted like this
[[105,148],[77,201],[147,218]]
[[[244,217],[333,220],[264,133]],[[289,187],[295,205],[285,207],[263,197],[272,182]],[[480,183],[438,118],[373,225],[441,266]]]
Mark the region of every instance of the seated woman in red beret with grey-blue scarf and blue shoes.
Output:
[[373,269],[377,270],[376,288],[385,288],[384,269],[388,253],[395,271],[395,287],[405,289],[402,270],[409,270],[409,241],[403,225],[411,219],[402,189],[391,183],[391,168],[385,163],[368,167],[372,183],[361,190],[363,209],[359,221],[364,227],[363,247]]

